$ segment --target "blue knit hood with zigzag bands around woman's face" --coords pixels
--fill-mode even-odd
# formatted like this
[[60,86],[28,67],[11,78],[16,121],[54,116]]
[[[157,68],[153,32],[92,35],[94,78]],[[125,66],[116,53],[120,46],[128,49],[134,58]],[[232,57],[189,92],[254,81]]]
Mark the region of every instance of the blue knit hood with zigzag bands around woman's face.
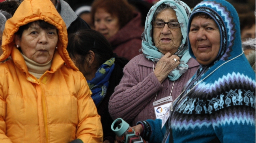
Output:
[[[243,52],[241,48],[239,17],[235,8],[230,3],[225,0],[204,0],[197,4],[189,18],[188,33],[191,27],[191,21],[196,13],[208,14],[219,27],[220,50],[215,62],[218,60],[230,60]],[[196,59],[192,52],[190,42],[189,53]]]

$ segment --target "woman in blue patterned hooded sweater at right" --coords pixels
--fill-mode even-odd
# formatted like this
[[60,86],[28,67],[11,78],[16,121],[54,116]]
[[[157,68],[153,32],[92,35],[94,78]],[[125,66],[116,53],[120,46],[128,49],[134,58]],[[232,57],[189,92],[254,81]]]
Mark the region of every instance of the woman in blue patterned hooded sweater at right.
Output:
[[255,73],[241,49],[234,7],[204,0],[192,11],[188,33],[200,69],[171,105],[163,129],[160,119],[147,120],[135,132],[152,143],[255,143]]

